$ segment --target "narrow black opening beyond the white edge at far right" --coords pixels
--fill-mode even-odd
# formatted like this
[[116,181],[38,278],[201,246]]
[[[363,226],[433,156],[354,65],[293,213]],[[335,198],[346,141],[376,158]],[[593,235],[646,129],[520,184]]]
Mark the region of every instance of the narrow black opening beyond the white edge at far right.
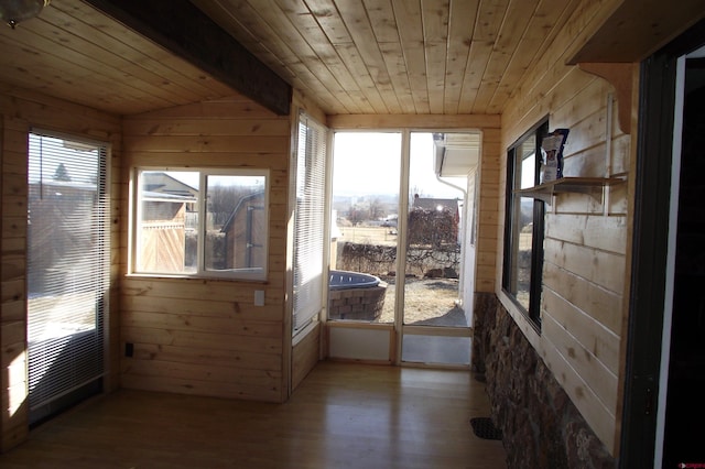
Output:
[[685,66],[664,468],[705,463],[705,58]]

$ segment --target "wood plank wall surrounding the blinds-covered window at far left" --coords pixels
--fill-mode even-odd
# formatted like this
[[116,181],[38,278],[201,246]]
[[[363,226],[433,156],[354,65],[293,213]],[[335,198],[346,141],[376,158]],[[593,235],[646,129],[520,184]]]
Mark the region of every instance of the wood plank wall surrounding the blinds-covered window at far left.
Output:
[[111,292],[107,316],[106,390],[118,386],[119,367],[116,360],[118,342],[117,310],[119,259],[119,198],[116,175],[120,174],[120,120],[83,106],[48,98],[0,85],[0,177],[2,178],[2,221],[0,255],[0,384],[2,415],[0,417],[0,451],[22,443],[29,434],[28,353],[26,353],[26,167],[28,141],[31,128],[54,131],[77,138],[88,138],[111,144],[112,219]]

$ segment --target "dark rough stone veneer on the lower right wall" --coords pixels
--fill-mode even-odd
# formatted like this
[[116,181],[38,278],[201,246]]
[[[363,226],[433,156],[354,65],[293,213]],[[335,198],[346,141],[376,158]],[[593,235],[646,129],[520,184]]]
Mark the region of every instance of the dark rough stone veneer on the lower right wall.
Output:
[[617,467],[495,294],[475,295],[474,317],[473,369],[487,382],[508,467]]

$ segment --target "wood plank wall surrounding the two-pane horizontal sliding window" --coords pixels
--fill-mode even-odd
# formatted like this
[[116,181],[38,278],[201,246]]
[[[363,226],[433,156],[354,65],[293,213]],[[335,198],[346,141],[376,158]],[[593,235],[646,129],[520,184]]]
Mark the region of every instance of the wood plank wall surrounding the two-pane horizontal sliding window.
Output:
[[[281,402],[285,327],[290,118],[245,97],[126,117],[126,181],[135,166],[269,168],[269,274],[264,283],[128,276],[121,341],[126,388]],[[127,215],[127,187],[126,197]],[[126,223],[127,226],[127,223]],[[127,228],[123,233],[128,239]],[[128,251],[122,261],[127,272]],[[254,306],[254,291],[264,306]]]

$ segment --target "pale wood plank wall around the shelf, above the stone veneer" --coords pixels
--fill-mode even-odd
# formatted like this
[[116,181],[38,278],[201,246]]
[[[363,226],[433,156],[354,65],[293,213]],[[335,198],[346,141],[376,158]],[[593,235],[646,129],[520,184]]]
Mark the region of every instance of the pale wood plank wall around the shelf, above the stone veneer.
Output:
[[[550,130],[568,128],[565,176],[628,176],[631,137],[618,127],[614,87],[601,78],[565,66],[571,31],[594,14],[576,11],[539,66],[514,92],[502,116],[506,149],[540,119]],[[506,173],[501,159],[500,174]],[[499,208],[505,207],[505,176]],[[498,296],[554,373],[575,406],[612,455],[618,454],[621,331],[627,274],[627,184],[603,196],[562,194],[546,207],[542,288],[542,330],[536,334],[498,287]],[[503,215],[498,232],[503,232]],[[501,252],[498,247],[497,252]],[[497,260],[497,285],[501,257]]]

